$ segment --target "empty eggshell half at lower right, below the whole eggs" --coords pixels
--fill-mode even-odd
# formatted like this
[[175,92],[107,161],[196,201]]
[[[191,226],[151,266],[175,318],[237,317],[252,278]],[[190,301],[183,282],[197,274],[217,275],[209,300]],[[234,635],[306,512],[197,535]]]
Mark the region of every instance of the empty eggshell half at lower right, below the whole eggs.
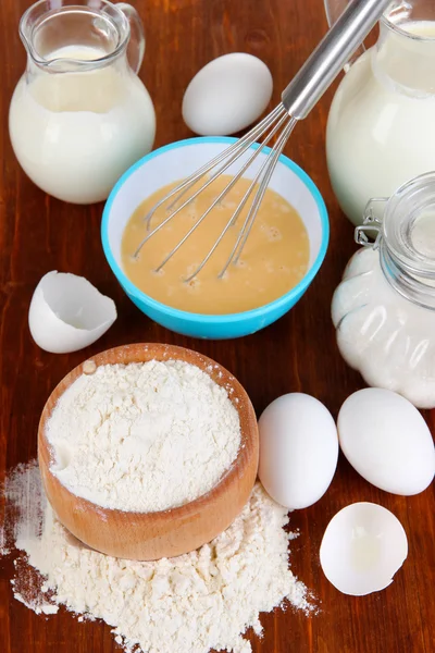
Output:
[[337,590],[363,596],[388,587],[407,555],[407,534],[397,517],[377,504],[356,503],[330,521],[320,564]]

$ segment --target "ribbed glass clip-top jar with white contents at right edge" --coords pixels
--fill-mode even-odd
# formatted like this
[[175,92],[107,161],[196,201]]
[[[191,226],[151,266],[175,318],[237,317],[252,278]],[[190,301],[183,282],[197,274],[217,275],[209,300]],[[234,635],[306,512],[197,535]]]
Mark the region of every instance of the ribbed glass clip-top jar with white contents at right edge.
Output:
[[434,408],[435,173],[372,199],[356,241],[332,303],[339,350],[369,385]]

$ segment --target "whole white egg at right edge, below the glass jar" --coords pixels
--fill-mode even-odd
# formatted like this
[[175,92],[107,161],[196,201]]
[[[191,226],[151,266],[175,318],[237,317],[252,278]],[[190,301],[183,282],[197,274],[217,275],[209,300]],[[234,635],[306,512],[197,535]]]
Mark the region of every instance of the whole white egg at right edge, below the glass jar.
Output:
[[368,387],[350,395],[338,415],[340,447],[350,465],[381,490],[409,496],[435,475],[431,431],[408,399]]

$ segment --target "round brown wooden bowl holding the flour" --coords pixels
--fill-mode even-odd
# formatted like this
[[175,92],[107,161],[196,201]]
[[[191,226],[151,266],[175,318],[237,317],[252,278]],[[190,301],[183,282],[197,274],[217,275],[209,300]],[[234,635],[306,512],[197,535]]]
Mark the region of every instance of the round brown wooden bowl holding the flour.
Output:
[[[159,513],[102,508],[76,496],[50,471],[51,446],[46,423],[62,393],[89,366],[184,360],[206,371],[225,387],[240,419],[237,458],[210,492],[183,506]],[[223,367],[196,352],[160,344],[125,345],[109,349],[72,370],[51,393],[39,421],[38,459],[47,497],[58,519],[78,540],[108,555],[137,560],[177,556],[198,549],[224,531],[241,512],[256,482],[259,436],[252,404],[240,383]]]

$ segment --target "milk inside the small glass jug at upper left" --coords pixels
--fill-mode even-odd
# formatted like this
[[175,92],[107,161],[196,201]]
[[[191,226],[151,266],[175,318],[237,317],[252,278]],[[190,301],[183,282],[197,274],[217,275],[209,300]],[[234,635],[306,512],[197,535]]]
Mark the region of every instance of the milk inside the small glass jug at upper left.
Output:
[[[69,46],[51,58],[104,54]],[[126,62],[24,75],[12,98],[9,125],[15,155],[33,182],[75,204],[105,199],[127,168],[150,151],[156,133],[152,101]]]

